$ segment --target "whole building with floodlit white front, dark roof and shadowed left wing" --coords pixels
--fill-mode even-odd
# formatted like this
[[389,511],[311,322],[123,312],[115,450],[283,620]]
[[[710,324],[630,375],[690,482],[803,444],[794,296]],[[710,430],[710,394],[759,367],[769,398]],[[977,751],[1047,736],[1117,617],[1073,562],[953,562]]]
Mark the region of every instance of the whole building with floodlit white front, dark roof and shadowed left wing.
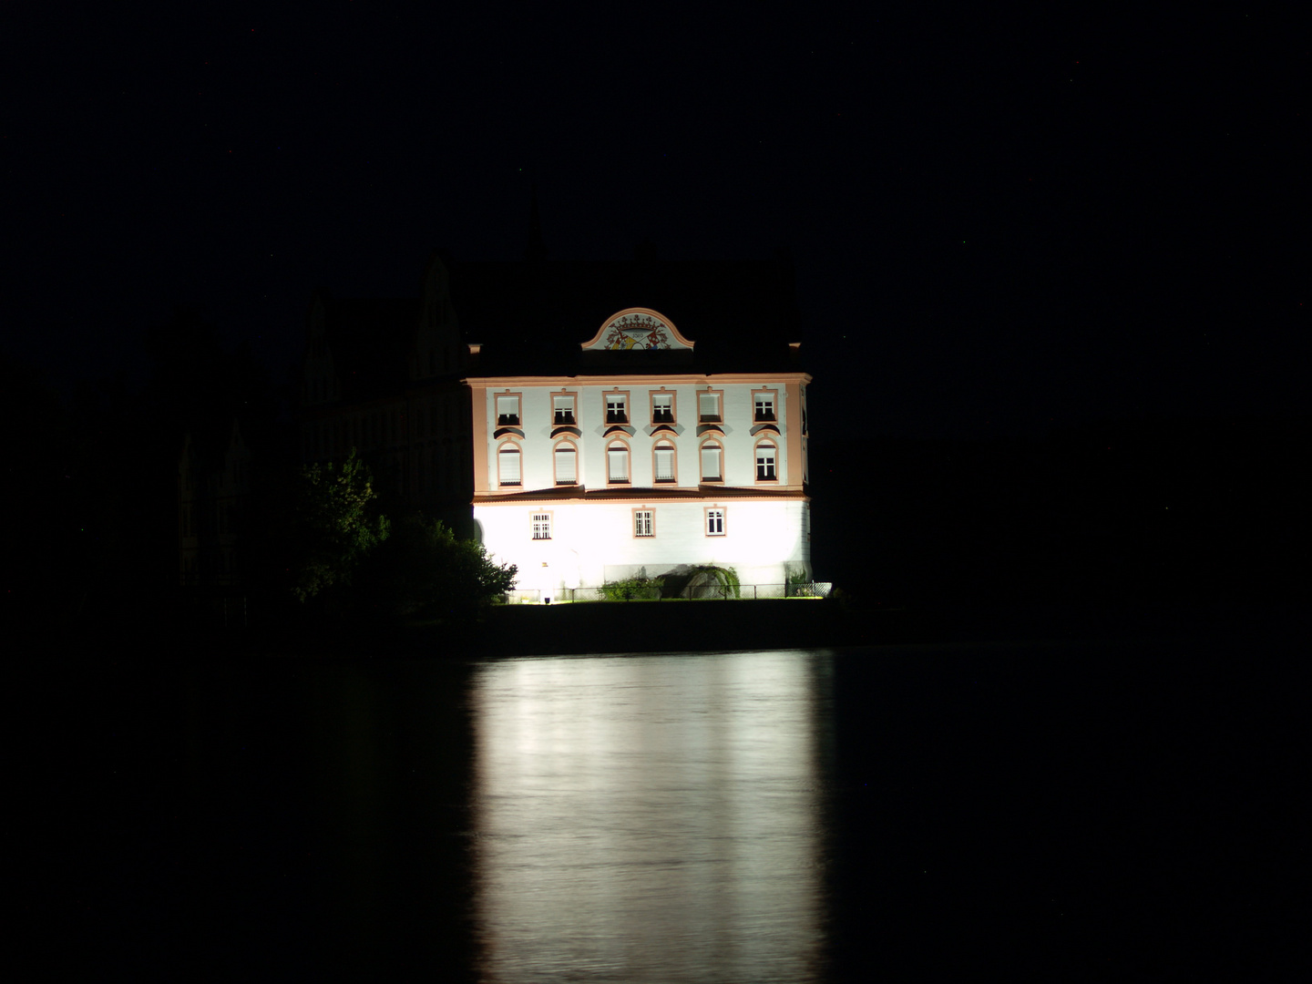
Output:
[[786,258],[547,261],[534,220],[522,262],[434,253],[419,298],[315,295],[302,459],[472,510],[543,600],[702,565],[782,593],[811,576],[798,328]]

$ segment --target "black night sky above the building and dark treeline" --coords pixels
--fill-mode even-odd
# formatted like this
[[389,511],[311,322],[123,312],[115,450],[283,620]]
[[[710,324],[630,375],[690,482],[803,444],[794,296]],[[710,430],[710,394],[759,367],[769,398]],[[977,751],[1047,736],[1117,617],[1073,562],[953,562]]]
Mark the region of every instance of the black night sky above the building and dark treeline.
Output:
[[787,249],[817,433],[1308,412],[1300,31],[925,7],[5,4],[4,345],[139,374],[190,304],[283,378],[537,185],[552,258]]

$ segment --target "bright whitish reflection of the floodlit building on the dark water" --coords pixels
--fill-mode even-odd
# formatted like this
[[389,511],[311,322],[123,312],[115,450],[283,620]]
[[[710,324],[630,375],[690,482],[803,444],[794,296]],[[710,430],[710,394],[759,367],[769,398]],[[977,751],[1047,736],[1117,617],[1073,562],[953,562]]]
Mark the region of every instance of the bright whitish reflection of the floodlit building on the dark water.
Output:
[[823,951],[824,652],[478,668],[488,980],[811,980]]

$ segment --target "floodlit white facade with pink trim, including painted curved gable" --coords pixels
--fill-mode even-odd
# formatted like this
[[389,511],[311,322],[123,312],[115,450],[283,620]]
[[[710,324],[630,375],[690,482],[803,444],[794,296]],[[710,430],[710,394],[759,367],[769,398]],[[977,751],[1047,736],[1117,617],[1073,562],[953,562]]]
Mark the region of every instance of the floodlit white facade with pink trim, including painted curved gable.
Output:
[[[634,348],[615,344],[626,316],[583,348]],[[661,315],[639,318],[652,337],[659,325],[660,348],[693,348]],[[810,579],[811,378],[607,366],[619,371],[466,380],[474,518],[495,560],[518,567],[517,586],[548,598],[703,564],[732,567],[743,584]]]

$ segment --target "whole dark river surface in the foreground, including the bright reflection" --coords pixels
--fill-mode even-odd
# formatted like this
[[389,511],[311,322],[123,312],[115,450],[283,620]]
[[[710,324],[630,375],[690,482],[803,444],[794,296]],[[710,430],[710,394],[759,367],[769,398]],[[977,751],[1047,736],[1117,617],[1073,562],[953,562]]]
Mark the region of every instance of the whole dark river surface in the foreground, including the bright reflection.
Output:
[[47,964],[1252,976],[1308,913],[1287,674],[1235,639],[106,661],[47,723]]

